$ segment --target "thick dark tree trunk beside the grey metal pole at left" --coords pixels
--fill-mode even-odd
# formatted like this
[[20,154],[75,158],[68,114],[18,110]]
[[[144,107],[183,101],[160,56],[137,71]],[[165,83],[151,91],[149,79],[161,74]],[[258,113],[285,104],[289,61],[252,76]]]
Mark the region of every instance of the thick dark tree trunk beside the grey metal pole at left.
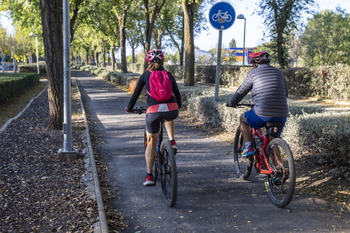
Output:
[[63,12],[61,0],[40,0],[48,80],[49,129],[63,126]]

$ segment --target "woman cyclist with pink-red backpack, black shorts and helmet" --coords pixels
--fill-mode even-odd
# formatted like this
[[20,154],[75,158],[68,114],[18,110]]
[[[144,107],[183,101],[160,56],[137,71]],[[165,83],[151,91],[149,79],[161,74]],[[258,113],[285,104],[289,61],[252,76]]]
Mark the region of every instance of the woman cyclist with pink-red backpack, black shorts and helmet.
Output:
[[[155,150],[156,150],[158,136],[159,136],[160,121],[165,120],[164,125],[167,130],[169,140],[173,146],[173,149],[175,151],[177,150],[177,145],[174,138],[174,134],[175,134],[174,120],[179,115],[179,108],[181,107],[181,95],[174,76],[170,72],[166,71],[163,67],[164,53],[160,49],[151,50],[147,53],[146,58],[147,58],[147,61],[149,62],[149,66],[147,68],[147,71],[140,76],[139,81],[134,90],[134,93],[126,108],[126,111],[127,112],[132,111],[138,97],[140,96],[143,88],[145,87],[147,91],[147,107],[148,107],[146,112],[147,147],[145,151],[147,175],[146,175],[145,181],[143,182],[143,185],[151,186],[151,185],[154,185],[152,169],[153,169],[153,164],[155,159]],[[169,94],[170,99],[165,101],[159,101],[159,98],[157,98],[155,94],[152,97],[151,89],[153,89],[153,85],[157,85],[157,84],[152,83],[154,82],[152,81],[154,79],[153,77],[151,77],[151,75],[153,72],[157,73],[157,71],[161,71],[161,73],[165,75],[164,77],[170,79],[169,81],[171,81],[171,89],[168,89],[168,91],[170,91],[170,94]]]

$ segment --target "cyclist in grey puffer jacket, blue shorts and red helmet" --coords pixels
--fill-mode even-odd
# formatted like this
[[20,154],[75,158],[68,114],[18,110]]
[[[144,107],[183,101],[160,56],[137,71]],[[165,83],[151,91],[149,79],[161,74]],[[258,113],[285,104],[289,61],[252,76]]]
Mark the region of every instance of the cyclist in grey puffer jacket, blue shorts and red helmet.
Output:
[[254,69],[248,72],[246,79],[226,105],[236,107],[248,92],[251,92],[254,108],[243,113],[240,117],[245,145],[242,157],[250,157],[254,154],[251,146],[250,127],[259,129],[264,127],[267,122],[280,122],[281,126],[274,134],[274,137],[280,137],[287,121],[288,88],[286,79],[281,70],[270,65],[270,60],[270,55],[265,51],[252,55],[250,63],[254,65]]

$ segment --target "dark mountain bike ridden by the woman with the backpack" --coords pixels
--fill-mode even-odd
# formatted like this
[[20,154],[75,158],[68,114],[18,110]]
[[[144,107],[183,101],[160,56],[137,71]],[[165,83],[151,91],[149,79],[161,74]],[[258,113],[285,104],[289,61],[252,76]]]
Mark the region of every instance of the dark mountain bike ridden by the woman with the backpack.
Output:
[[[136,107],[133,113],[146,113],[147,107]],[[154,182],[157,184],[158,176],[160,178],[163,194],[169,207],[174,207],[177,199],[177,168],[175,151],[168,139],[163,138],[164,121],[160,122],[160,131],[156,147],[154,160]],[[147,147],[146,129],[144,130],[144,147]]]

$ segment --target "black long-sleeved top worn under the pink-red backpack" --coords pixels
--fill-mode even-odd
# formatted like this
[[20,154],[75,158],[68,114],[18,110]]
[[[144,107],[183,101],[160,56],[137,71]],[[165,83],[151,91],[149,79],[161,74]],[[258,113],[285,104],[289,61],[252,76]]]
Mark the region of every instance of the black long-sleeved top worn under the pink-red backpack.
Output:
[[[135,103],[136,103],[137,99],[139,98],[139,96],[140,96],[140,94],[145,86],[146,86],[146,90],[148,92],[150,92],[149,77],[151,76],[151,73],[152,73],[151,71],[147,70],[146,72],[144,72],[141,75],[139,81],[137,82],[134,93],[131,96],[131,99],[129,101],[129,104],[127,107],[128,109],[132,110],[134,108]],[[181,107],[181,95],[180,95],[179,88],[176,84],[175,78],[170,72],[167,72],[167,73],[168,73],[168,76],[171,80],[173,96],[165,102],[158,102],[157,100],[152,98],[152,96],[148,95],[148,97],[147,97],[147,106],[148,107],[152,106],[152,105],[156,105],[156,104],[161,104],[161,103],[177,103],[179,108]]]

